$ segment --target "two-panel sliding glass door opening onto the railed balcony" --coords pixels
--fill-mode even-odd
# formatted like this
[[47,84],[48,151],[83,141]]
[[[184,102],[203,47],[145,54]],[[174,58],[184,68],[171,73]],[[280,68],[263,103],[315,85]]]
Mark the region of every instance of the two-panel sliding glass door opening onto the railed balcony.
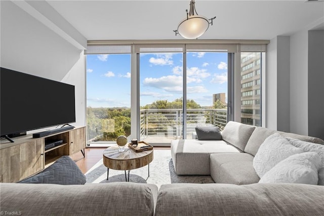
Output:
[[192,132],[197,126],[224,127],[227,53],[139,56],[141,140],[161,145],[172,139],[195,138]]

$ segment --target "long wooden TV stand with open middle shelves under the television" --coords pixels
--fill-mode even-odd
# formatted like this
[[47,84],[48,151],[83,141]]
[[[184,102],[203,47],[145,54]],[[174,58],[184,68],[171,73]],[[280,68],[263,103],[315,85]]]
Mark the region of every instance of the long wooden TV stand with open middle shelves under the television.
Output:
[[[2,139],[0,142],[0,182],[15,183],[42,171],[64,155],[72,155],[86,147],[86,127],[32,138],[32,134],[12,138],[14,142]],[[45,150],[48,139],[62,139],[60,146]],[[85,156],[85,155],[84,155]]]

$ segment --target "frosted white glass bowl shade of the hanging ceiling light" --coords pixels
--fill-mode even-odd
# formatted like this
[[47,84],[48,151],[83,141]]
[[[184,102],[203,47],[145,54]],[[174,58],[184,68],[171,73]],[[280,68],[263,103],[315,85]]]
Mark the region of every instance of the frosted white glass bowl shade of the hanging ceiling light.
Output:
[[196,39],[207,31],[209,21],[205,17],[193,15],[184,19],[178,26],[178,33],[186,39]]

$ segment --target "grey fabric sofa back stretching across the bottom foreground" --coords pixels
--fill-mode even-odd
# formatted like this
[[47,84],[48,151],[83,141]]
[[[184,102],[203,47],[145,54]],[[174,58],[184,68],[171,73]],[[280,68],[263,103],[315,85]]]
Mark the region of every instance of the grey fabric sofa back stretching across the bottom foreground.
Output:
[[305,184],[0,184],[3,215],[323,215]]

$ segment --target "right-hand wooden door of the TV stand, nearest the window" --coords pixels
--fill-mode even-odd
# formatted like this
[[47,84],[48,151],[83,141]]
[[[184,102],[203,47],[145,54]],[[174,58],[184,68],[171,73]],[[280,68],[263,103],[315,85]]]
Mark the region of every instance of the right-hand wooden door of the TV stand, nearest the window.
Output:
[[86,127],[75,128],[69,133],[70,155],[86,148]]

